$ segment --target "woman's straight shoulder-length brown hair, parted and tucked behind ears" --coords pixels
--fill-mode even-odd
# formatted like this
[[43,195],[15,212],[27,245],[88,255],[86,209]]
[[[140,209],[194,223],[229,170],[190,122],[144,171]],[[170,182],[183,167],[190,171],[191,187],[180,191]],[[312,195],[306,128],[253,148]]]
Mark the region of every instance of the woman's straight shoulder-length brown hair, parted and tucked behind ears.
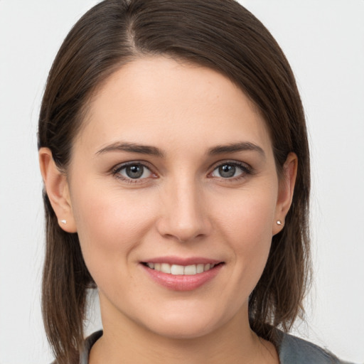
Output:
[[[310,273],[309,148],[304,111],[282,50],[255,16],[234,0],[105,0],[90,9],[65,38],[48,76],[39,118],[38,147],[48,147],[67,173],[75,135],[92,92],[114,70],[143,55],[213,68],[238,85],[267,123],[277,171],[289,152],[299,159],[291,209],[272,239],[267,265],[250,296],[250,324],[274,340],[288,331]],[[77,234],[64,232],[43,193],[46,254],[43,319],[58,363],[77,363],[82,349],[87,288],[95,283]]]

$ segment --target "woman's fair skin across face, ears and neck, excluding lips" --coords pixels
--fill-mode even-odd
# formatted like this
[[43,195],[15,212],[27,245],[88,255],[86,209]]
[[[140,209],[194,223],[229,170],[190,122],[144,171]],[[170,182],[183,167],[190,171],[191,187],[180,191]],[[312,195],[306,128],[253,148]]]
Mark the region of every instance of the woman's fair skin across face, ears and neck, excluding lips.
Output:
[[[237,143],[258,148],[209,153]],[[284,228],[297,159],[289,154],[279,180],[264,120],[228,78],[164,57],[134,60],[92,98],[67,175],[48,149],[40,161],[60,226],[78,233],[99,290],[104,335],[91,364],[279,363],[250,330],[247,304]],[[126,162],[144,164],[142,178],[127,178]],[[235,176],[222,176],[224,165]],[[141,264],[166,255],[223,264],[202,287],[173,291]]]

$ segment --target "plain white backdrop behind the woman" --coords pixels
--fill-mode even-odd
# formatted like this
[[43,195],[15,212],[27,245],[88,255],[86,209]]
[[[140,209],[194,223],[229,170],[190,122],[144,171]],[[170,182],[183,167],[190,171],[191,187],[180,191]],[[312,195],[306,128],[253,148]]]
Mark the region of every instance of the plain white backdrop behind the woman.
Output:
[[[294,333],[364,360],[364,1],[242,0],[282,46],[306,109],[314,287]],[[36,130],[45,78],[97,1],[0,0],[0,364],[50,363]],[[97,303],[87,333],[100,327]]]

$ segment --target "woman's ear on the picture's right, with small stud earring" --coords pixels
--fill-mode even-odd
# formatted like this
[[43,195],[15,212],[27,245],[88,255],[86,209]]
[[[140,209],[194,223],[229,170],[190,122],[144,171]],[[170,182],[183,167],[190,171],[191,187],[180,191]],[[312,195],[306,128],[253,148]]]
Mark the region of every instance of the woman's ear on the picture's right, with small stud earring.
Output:
[[[294,184],[296,183],[298,158],[295,153],[289,153],[283,165],[281,181],[277,197],[276,212],[272,228],[272,235],[277,234],[284,228],[284,219],[291,207]],[[281,225],[277,223],[281,222]]]

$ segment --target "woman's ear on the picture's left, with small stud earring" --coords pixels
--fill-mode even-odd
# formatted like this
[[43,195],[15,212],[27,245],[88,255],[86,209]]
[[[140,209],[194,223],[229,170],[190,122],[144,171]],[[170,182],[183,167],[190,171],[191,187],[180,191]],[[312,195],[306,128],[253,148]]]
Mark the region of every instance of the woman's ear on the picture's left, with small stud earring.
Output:
[[58,218],[60,228],[66,232],[77,232],[67,176],[55,165],[50,149],[39,149],[39,164],[45,191]]

